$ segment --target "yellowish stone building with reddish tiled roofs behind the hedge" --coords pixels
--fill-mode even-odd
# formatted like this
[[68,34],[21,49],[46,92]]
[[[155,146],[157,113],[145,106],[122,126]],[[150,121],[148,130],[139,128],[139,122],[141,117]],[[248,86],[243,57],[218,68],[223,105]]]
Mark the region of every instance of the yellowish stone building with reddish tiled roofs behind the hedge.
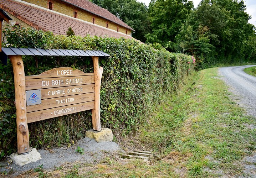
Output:
[[[0,0],[0,8],[24,27],[66,35],[130,38],[134,30],[108,10],[88,0]],[[30,3],[31,2],[31,3]],[[34,4],[32,4],[34,3]],[[134,39],[134,38],[133,38]]]

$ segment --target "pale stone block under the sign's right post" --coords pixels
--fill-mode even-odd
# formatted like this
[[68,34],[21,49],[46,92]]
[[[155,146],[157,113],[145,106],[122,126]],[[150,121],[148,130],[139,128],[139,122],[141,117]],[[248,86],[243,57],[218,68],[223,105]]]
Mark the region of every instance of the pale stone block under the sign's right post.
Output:
[[113,140],[113,133],[111,129],[104,129],[102,128],[102,131],[96,131],[96,130],[87,130],[85,133],[85,136],[88,138],[92,138],[96,140],[97,142],[111,142]]

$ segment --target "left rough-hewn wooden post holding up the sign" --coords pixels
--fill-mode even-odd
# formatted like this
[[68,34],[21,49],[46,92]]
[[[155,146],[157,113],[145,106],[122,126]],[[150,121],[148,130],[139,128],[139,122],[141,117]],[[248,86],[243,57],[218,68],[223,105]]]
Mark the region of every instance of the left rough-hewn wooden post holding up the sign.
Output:
[[29,151],[29,129],[27,127],[24,66],[21,56],[9,56],[9,59],[14,73],[18,153],[26,153]]

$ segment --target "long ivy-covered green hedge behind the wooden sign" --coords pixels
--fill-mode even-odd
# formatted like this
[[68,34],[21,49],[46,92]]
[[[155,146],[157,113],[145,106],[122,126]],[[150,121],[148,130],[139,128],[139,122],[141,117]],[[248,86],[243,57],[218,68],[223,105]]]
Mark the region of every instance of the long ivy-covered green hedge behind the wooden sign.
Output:
[[[152,106],[176,90],[193,68],[191,56],[155,50],[135,40],[54,36],[51,32],[21,27],[5,28],[3,46],[52,49],[93,49],[110,55],[100,58],[104,68],[101,85],[101,125],[114,135],[126,135],[146,122]],[[73,67],[93,72],[89,57],[23,56],[25,75],[38,75],[57,67]],[[36,67],[36,61],[38,67]],[[190,63],[188,63],[190,62]],[[16,115],[12,66],[0,64],[0,150],[1,157],[16,151]],[[36,148],[72,144],[91,129],[91,111],[28,124],[30,145]]]

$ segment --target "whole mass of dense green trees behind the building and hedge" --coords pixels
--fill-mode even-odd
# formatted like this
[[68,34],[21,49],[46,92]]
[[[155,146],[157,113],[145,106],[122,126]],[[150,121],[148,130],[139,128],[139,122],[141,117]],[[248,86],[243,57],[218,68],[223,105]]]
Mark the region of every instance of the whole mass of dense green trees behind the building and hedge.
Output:
[[93,0],[126,22],[133,37],[196,56],[202,68],[256,61],[256,31],[244,0]]

